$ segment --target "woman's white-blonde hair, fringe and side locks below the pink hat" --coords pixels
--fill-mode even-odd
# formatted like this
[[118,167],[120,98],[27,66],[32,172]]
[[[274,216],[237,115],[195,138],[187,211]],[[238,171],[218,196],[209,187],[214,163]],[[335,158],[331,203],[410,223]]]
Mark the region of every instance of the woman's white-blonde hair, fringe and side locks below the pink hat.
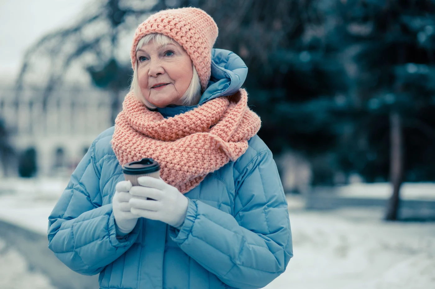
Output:
[[[141,49],[142,46],[154,41],[158,46],[164,46],[169,43],[174,43],[179,45],[175,42],[174,39],[161,34],[161,33],[151,33],[139,40],[139,43],[137,43],[136,52],[137,50]],[[183,105],[186,106],[192,106],[196,105],[199,99],[201,98],[201,80],[199,79],[198,72],[195,69],[195,66],[192,63],[193,67],[193,77],[191,80],[191,83],[189,87],[187,88],[186,92],[184,92],[184,95],[181,97],[181,102]],[[139,79],[137,78],[137,59],[134,64],[134,72],[133,72],[133,79],[131,80],[130,85],[130,92],[133,92],[134,97],[142,102],[147,108],[157,108],[157,106],[151,104],[151,102],[147,101],[144,96],[142,95],[141,88],[139,87]]]

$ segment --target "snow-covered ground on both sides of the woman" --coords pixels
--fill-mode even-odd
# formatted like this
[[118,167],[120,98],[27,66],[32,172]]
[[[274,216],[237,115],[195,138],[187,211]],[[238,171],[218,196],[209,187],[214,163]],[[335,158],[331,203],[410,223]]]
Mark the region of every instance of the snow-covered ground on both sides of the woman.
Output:
[[[67,182],[0,181],[0,219],[46,234]],[[384,222],[376,208],[305,211],[290,196],[288,203],[294,257],[266,289],[435,288],[435,223]],[[26,287],[52,288],[0,240],[0,288]]]

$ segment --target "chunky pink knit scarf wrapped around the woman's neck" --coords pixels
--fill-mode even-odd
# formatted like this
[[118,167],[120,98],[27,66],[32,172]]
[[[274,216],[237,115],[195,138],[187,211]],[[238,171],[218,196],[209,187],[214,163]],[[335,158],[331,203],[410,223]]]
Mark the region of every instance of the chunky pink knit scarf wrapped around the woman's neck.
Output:
[[121,166],[153,158],[160,176],[185,194],[204,177],[237,160],[261,120],[248,106],[244,89],[231,96],[211,99],[174,117],[164,118],[134,98],[125,96],[110,141]]

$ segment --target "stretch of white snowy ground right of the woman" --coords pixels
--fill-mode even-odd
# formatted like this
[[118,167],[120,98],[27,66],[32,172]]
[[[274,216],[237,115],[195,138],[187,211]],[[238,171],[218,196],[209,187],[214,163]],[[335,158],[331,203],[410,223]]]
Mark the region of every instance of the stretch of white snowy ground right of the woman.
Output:
[[435,223],[388,223],[382,213],[290,212],[294,257],[265,288],[435,288]]

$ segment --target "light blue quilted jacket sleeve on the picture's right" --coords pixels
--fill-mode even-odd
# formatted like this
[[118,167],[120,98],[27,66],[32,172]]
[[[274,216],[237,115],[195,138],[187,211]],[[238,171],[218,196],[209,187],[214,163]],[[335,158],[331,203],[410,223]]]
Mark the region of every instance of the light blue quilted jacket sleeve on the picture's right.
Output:
[[287,201],[270,151],[263,151],[236,180],[234,217],[189,199],[187,216],[171,237],[225,284],[262,288],[293,256]]

